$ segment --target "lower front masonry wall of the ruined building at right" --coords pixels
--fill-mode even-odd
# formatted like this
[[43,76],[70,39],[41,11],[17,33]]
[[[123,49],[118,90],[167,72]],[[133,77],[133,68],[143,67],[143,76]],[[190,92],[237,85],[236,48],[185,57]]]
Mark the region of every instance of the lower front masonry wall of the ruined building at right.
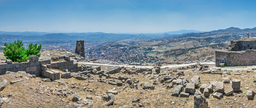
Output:
[[216,66],[226,63],[226,66],[256,65],[256,50],[239,51],[216,51]]

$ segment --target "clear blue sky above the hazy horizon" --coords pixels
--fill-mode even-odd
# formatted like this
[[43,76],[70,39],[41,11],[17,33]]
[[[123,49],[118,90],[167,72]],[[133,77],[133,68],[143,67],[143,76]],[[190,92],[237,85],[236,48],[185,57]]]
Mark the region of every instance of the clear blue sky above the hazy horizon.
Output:
[[256,27],[255,0],[0,0],[0,31],[157,33]]

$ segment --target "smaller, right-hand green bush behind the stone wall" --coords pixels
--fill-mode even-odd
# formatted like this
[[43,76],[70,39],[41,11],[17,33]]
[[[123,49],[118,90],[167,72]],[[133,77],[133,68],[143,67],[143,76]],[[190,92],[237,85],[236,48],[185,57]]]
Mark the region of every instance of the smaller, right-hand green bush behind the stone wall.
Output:
[[41,44],[37,46],[37,44],[33,45],[31,43],[31,44],[27,45],[27,50],[26,50],[27,55],[28,56],[37,55],[38,57],[40,57],[41,54],[39,52],[40,52],[41,48],[42,48]]

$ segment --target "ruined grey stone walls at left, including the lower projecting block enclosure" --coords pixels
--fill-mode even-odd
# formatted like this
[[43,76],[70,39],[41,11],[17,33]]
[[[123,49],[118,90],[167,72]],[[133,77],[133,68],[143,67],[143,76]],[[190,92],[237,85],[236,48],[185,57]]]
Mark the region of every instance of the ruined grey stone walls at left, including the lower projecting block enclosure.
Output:
[[[59,60],[56,60],[59,59]],[[53,69],[65,70],[58,72]],[[29,62],[13,63],[12,60],[6,59],[6,63],[0,64],[0,75],[8,72],[24,72],[30,75],[44,76],[51,80],[69,78],[70,72],[82,72],[83,67],[74,63],[68,56],[52,57],[51,59],[39,60],[37,56],[30,56]]]

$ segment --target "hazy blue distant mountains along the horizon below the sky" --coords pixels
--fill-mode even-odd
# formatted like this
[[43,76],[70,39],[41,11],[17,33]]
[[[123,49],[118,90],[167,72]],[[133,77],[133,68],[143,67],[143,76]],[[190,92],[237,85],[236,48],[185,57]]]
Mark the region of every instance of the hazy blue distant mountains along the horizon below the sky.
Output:
[[[249,31],[250,33],[256,33],[255,28],[235,28],[230,27],[227,29],[220,29],[210,32],[195,31],[195,30],[180,30],[170,31],[162,33],[144,33],[149,39],[173,39],[184,37],[202,37],[213,36],[219,34],[234,34],[242,35]],[[117,33],[104,33],[104,32],[87,32],[87,33],[49,33],[49,32],[5,32],[0,31],[0,42],[13,41],[13,40],[27,40],[27,41],[48,41],[48,40],[85,40],[85,41],[119,41],[119,40],[133,40],[138,37],[139,34],[117,34]],[[158,40],[158,39],[156,39]]]

